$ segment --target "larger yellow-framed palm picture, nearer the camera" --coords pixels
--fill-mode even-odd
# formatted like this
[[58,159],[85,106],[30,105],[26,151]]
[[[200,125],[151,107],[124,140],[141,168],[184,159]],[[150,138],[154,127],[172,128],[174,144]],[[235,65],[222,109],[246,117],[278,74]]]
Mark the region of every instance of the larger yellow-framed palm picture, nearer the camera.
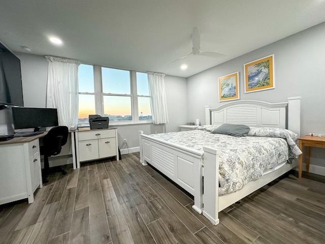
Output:
[[245,93],[274,89],[274,54],[244,64]]

